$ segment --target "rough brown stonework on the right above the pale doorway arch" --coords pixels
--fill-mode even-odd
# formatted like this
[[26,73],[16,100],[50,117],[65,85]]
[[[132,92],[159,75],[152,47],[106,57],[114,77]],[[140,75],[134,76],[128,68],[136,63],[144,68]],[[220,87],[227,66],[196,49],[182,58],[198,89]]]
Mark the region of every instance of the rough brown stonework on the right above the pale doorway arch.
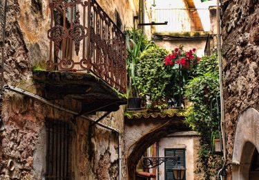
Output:
[[258,105],[259,1],[222,0],[222,53],[227,161],[233,155],[238,116]]

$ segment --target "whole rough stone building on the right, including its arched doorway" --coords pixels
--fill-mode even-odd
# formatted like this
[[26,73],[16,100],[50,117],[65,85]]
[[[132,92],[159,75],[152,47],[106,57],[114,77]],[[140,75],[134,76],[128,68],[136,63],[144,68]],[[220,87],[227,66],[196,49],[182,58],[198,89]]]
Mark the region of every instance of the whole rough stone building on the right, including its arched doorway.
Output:
[[259,1],[222,0],[221,8],[228,179],[258,179]]

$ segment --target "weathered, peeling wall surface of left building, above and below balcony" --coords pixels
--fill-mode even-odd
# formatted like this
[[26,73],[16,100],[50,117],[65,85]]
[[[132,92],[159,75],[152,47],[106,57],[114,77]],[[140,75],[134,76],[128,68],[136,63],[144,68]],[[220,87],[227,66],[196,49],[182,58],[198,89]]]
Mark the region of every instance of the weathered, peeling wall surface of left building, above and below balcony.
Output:
[[[48,1],[8,0],[6,26],[6,65],[4,80],[21,89],[36,93],[32,67],[44,67],[48,60],[50,11]],[[133,24],[137,1],[98,1],[115,21],[115,8],[123,27]],[[0,11],[3,12],[0,2]],[[137,7],[137,6],[136,6]],[[0,15],[1,24],[3,15]],[[0,27],[0,43],[2,40]],[[1,53],[0,53],[1,55]],[[78,110],[73,102],[55,103]],[[70,103],[70,104],[67,104]],[[102,114],[92,116],[97,117]],[[3,120],[6,129],[0,133],[0,179],[41,179],[45,173],[46,118],[70,121],[71,114],[53,109],[37,100],[6,91]],[[102,122],[124,132],[124,107]],[[116,179],[118,174],[117,135],[102,127],[89,128],[89,121],[77,118],[73,125],[72,176],[74,179]],[[123,136],[122,136],[123,139]],[[120,142],[123,143],[123,142]],[[122,149],[123,150],[123,149]],[[15,163],[9,170],[8,162]]]

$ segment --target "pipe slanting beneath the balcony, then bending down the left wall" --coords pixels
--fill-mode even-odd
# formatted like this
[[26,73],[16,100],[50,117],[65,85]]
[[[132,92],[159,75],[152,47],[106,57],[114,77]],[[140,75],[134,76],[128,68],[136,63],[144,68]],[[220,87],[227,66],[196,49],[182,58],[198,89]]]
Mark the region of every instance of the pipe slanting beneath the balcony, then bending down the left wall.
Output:
[[[59,109],[61,111],[66,111],[68,112],[69,114],[73,114],[73,115],[77,115],[81,118],[84,118],[86,120],[90,120],[92,121],[93,123],[96,123],[96,120],[93,120],[92,118],[89,118],[87,116],[82,116],[82,115],[79,115],[78,112],[76,111],[71,111],[70,109],[67,109],[65,107],[61,107],[59,105],[55,105],[54,103],[50,102],[49,100],[46,100],[44,98],[41,98],[40,96],[37,96],[36,94],[34,93],[30,93],[28,91],[24,91],[23,89],[19,89],[17,87],[12,87],[10,85],[6,85],[4,87],[4,89],[8,89],[10,91],[14,91],[16,93],[19,93],[19,94],[22,94],[23,96],[28,96],[30,98],[34,98],[35,100],[39,100],[40,102],[46,104],[46,105],[49,105],[51,107],[54,107],[56,109]],[[109,129],[111,130],[112,132],[115,132],[118,136],[118,156],[119,156],[119,180],[122,180],[122,150],[121,150],[121,136],[120,136],[120,133],[119,133],[119,130],[118,129],[115,129],[113,127],[110,127],[108,125],[104,125],[103,123],[99,123],[97,122],[96,125],[99,125],[100,127],[104,127],[105,129]]]

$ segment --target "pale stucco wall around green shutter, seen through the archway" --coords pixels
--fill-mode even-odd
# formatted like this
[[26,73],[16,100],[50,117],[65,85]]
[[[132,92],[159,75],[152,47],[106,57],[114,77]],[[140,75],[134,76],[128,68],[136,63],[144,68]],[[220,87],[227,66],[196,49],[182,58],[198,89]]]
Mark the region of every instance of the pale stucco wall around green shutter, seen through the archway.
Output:
[[[198,154],[198,147],[195,145],[197,135],[190,136],[186,132],[177,132],[171,134],[167,138],[162,138],[159,141],[159,156],[164,156],[165,149],[185,149],[186,156],[186,179],[196,179],[195,177],[195,157]],[[164,179],[164,163],[160,165],[160,179]]]

